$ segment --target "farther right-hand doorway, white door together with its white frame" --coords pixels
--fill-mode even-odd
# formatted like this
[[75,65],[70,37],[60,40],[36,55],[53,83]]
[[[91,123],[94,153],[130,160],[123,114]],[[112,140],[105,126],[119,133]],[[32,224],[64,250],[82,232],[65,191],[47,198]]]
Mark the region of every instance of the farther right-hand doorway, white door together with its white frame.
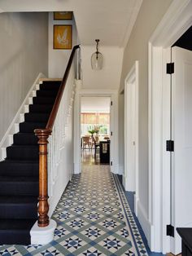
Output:
[[124,189],[134,193],[138,203],[138,61],[124,81]]

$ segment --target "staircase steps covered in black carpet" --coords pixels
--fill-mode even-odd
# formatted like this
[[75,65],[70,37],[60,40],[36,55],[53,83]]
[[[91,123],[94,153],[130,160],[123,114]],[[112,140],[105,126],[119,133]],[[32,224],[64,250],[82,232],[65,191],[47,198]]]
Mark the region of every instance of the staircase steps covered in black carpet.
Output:
[[38,144],[33,130],[46,128],[60,81],[46,81],[24,114],[20,131],[0,161],[0,245],[29,245],[30,229],[37,221]]

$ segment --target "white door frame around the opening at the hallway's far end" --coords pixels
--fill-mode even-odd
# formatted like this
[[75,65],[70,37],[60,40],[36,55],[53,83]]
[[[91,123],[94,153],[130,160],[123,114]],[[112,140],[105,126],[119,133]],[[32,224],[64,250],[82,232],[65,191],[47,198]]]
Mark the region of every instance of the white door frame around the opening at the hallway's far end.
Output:
[[119,138],[118,138],[118,90],[91,90],[76,88],[74,104],[74,173],[81,173],[81,97],[109,97],[112,101],[110,111],[110,143],[111,172],[119,173]]

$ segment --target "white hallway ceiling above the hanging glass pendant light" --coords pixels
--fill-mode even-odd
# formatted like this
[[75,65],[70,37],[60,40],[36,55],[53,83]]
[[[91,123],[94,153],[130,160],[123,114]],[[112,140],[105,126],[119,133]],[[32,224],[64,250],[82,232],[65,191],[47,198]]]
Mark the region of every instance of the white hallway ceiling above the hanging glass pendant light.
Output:
[[126,46],[142,0],[1,0],[0,11],[73,11],[82,45]]

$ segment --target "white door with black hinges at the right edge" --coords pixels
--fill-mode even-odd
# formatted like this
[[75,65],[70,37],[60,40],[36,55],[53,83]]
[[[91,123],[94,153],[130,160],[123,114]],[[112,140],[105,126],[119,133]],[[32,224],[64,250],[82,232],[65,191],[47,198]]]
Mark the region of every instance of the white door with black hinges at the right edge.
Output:
[[[192,51],[172,47],[172,224],[192,227]],[[172,253],[181,252],[175,231]]]

